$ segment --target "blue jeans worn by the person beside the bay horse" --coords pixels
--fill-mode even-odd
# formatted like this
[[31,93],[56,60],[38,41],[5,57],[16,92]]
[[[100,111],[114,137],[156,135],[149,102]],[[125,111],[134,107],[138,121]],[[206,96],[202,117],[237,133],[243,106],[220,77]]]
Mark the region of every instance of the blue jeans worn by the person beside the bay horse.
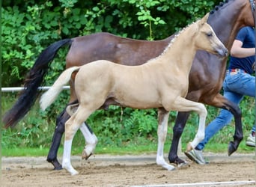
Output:
[[[243,99],[243,96],[255,97],[255,76],[244,73],[242,70],[234,73],[227,73],[223,82],[225,98],[236,103],[237,105]],[[230,111],[221,109],[219,116],[215,118],[205,129],[204,140],[201,141],[196,150],[203,150],[205,144],[213,137],[220,129],[231,122],[233,114]],[[253,126],[252,132],[255,132],[256,126]]]

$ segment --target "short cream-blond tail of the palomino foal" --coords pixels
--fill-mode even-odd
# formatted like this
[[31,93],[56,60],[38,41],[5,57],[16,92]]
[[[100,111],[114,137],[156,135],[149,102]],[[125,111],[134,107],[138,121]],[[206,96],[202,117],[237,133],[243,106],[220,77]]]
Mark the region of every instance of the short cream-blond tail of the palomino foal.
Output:
[[67,70],[64,70],[63,73],[61,73],[61,76],[58,77],[58,79],[55,81],[55,83],[52,85],[51,88],[49,88],[46,93],[43,93],[43,95],[40,98],[40,108],[44,111],[49,105],[52,104],[52,102],[55,101],[58,94],[61,93],[63,90],[63,86],[67,85],[67,82],[70,81],[71,75],[75,70],[79,70],[80,67],[70,67]]

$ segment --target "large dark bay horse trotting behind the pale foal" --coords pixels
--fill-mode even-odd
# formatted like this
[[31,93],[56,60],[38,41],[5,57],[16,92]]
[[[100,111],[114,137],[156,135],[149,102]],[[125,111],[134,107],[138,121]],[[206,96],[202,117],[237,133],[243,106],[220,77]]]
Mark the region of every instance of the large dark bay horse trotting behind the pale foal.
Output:
[[[229,0],[219,4],[210,12],[207,22],[228,49],[231,49],[231,44],[240,28],[246,25],[255,26],[255,9],[252,7],[255,7],[252,0]],[[100,59],[114,61],[119,64],[137,65],[160,55],[171,38],[172,36],[165,40],[144,41],[99,33],[53,43],[40,54],[28,73],[24,85],[27,89],[22,91],[19,99],[5,114],[3,119],[5,126],[15,126],[34,105],[34,101],[39,94],[37,88],[42,84],[50,62],[61,46],[65,44],[71,45],[66,58],[66,67],[80,66]],[[228,109],[234,114],[236,126],[234,142],[231,141],[228,148],[228,155],[231,155],[237,150],[240,141],[242,141],[243,129],[240,108],[219,93],[225,77],[226,60],[220,60],[215,55],[207,52],[197,52],[189,74],[189,93],[187,98],[218,108]],[[70,102],[75,102],[76,95],[73,93],[73,82],[70,82],[70,88]],[[56,169],[61,168],[57,159],[57,151],[61,136],[64,133],[64,123],[69,117],[66,110],[58,116],[55,134],[52,138],[52,147],[47,157],[47,161],[52,162]],[[177,145],[188,117],[189,112],[179,112],[177,115],[173,129],[174,137],[168,156],[171,163],[183,163],[177,156]],[[84,129],[87,128],[88,126],[85,126]],[[87,134],[93,135],[91,133]]]

